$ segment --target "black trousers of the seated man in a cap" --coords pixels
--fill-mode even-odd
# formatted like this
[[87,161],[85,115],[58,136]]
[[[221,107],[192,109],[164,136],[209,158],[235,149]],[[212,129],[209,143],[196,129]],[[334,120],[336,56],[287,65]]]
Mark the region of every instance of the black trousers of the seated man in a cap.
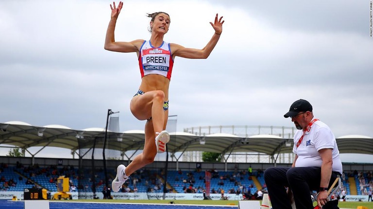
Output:
[[[329,187],[337,179],[333,172]],[[270,167],[264,171],[264,180],[273,209],[292,209],[285,187],[290,187],[297,209],[313,209],[310,191],[318,191],[320,167]],[[323,209],[338,209],[338,201],[329,201]]]

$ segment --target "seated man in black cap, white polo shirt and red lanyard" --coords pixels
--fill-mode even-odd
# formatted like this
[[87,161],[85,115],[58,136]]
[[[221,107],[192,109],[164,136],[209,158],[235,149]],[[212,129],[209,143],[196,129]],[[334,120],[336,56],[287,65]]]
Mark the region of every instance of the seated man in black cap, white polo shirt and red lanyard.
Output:
[[310,191],[321,191],[317,196],[318,207],[338,208],[338,201],[328,201],[327,194],[342,174],[336,138],[325,123],[314,117],[312,110],[308,101],[300,99],[284,115],[298,129],[293,137],[295,157],[291,167],[270,167],[264,173],[273,209],[291,208],[290,201],[284,201],[290,192],[296,208],[313,208]]

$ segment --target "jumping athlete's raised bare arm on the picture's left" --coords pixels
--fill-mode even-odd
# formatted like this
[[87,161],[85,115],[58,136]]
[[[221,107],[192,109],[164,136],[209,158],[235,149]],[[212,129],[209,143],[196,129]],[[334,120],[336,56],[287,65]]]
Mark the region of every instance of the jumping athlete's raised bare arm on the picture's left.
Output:
[[119,1],[118,7],[116,7],[115,2],[113,2],[113,6],[110,4],[111,8],[111,18],[109,22],[109,26],[106,30],[106,38],[105,38],[105,45],[104,49],[109,51],[116,51],[116,52],[137,52],[138,47],[141,46],[144,40],[135,40],[132,42],[116,42],[114,38],[114,31],[115,26],[117,24],[118,15],[120,10],[123,7],[123,2]]

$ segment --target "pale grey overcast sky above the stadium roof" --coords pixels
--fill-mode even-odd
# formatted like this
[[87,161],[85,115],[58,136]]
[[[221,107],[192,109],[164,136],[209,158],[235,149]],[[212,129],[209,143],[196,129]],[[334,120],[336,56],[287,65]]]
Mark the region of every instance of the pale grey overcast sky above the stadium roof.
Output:
[[[118,3],[119,1],[117,1]],[[141,76],[136,53],[103,49],[108,0],[0,1],[0,122],[142,130],[129,111]],[[116,41],[148,40],[150,18],[170,15],[165,41],[203,48],[216,13],[225,20],[206,60],[177,57],[170,115],[197,126],[292,127],[283,115],[302,98],[336,137],[373,137],[373,38],[369,0],[128,0]]]

